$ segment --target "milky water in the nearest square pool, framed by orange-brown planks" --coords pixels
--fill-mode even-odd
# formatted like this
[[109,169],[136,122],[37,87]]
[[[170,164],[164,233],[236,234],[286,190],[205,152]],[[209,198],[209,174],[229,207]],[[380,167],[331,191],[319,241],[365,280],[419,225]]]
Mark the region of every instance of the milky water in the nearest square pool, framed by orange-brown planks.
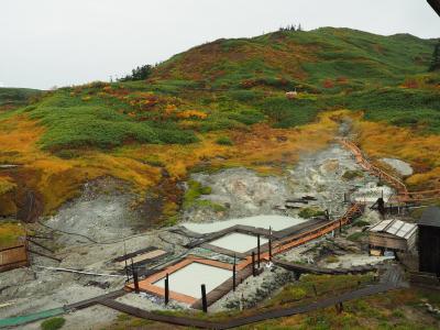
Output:
[[[168,285],[170,292],[200,299],[200,285],[206,285],[208,294],[230,277],[232,277],[232,271],[200,263],[191,263],[169,274]],[[165,278],[155,282],[154,285],[165,287]]]

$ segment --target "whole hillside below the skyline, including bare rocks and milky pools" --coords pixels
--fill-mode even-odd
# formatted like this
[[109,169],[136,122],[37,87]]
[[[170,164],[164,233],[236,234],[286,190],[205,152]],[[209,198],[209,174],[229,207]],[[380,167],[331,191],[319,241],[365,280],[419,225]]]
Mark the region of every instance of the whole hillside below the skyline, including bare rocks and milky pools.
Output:
[[[0,327],[439,329],[439,295],[407,283],[416,256],[369,233],[440,205],[438,42],[279,31],[145,80],[0,89]],[[383,234],[409,250],[409,227]]]

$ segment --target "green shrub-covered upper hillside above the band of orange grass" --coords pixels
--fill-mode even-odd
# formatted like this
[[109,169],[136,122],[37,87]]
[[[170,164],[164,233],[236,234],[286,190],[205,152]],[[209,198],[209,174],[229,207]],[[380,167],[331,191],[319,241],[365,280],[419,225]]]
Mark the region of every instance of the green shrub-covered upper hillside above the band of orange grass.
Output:
[[[0,89],[0,107],[28,106],[0,117],[24,111],[46,128],[41,147],[65,158],[75,156],[75,148],[190,144],[198,133],[246,131],[261,122],[295,128],[320,111],[342,108],[363,111],[366,120],[438,134],[440,75],[426,74],[435,44],[331,28],[220,40],[164,62],[147,81],[98,81],[44,95]],[[422,84],[399,88],[406,79]],[[288,100],[285,91],[293,89],[300,97]],[[153,106],[145,106],[146,94],[154,95]],[[35,97],[38,101],[29,105]],[[166,117],[168,106],[207,117]]]

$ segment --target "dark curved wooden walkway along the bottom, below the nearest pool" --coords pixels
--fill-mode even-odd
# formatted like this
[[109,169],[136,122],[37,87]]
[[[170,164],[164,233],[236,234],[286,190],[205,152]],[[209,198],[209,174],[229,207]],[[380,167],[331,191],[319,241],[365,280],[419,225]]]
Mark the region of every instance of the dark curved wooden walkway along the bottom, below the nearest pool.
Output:
[[261,311],[256,315],[239,317],[230,319],[223,322],[216,322],[209,320],[199,320],[195,318],[167,316],[155,311],[146,311],[136,307],[132,307],[122,302],[118,302],[113,299],[102,299],[99,304],[107,306],[109,308],[132,315],[138,318],[148,319],[157,322],[172,323],[176,326],[193,327],[200,329],[231,329],[237,327],[242,327],[251,323],[262,322],[270,319],[290,317],[298,314],[310,312],[317,309],[333,307],[338,304],[345,302],[353,299],[359,299],[367,297],[371,295],[376,295],[385,293],[392,289],[397,289],[398,287],[391,284],[378,284],[373,286],[367,286],[361,289],[344,293],[334,297],[324,298],[316,302],[311,302],[305,306],[290,307],[290,308],[279,308],[274,310]]

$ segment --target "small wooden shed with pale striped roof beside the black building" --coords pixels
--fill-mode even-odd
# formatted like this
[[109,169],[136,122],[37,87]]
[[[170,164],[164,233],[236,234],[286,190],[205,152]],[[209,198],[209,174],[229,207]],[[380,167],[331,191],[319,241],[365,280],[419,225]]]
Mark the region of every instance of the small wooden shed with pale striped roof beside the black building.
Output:
[[384,220],[369,229],[371,250],[408,252],[416,248],[417,224],[402,220]]

